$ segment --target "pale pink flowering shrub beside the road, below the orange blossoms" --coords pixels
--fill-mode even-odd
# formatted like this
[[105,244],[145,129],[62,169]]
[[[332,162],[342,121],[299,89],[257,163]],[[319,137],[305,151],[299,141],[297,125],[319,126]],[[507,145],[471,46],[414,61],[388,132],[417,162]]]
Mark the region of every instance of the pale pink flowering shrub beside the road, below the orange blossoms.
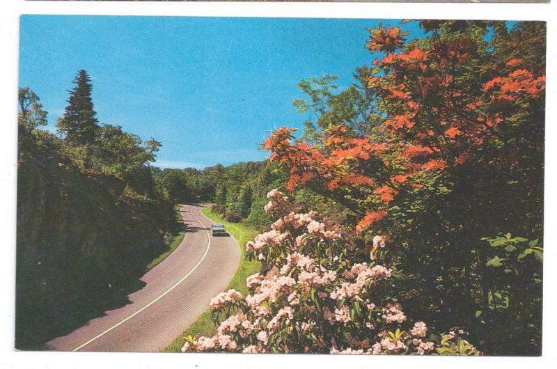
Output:
[[[278,219],[246,251],[269,272],[247,278],[245,297],[235,290],[214,297],[217,334],[189,337],[182,351],[479,354],[462,330],[436,336],[410,322],[392,297],[395,271],[351,261],[350,240],[334,223],[293,212],[276,189],[268,197],[266,211]],[[375,243],[385,246],[383,237]]]

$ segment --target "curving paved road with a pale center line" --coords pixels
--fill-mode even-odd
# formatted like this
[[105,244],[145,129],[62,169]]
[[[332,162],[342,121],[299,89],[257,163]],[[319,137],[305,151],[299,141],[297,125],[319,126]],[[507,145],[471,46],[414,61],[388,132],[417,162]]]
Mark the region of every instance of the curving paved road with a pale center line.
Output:
[[237,241],[210,235],[212,222],[201,209],[182,207],[184,240],[141,277],[146,285],[128,296],[130,304],[47,345],[59,351],[157,352],[178,337],[226,288],[240,262]]

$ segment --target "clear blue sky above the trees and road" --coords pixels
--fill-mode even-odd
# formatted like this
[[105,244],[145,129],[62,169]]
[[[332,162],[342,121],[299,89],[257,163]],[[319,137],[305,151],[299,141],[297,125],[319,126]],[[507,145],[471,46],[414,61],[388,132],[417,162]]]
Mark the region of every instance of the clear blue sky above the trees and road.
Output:
[[[203,168],[267,157],[257,143],[301,127],[301,79],[341,87],[372,62],[366,27],[398,20],[24,15],[19,86],[35,91],[54,132],[79,69],[100,123],[162,142],[157,166]],[[421,36],[415,22],[402,25]]]

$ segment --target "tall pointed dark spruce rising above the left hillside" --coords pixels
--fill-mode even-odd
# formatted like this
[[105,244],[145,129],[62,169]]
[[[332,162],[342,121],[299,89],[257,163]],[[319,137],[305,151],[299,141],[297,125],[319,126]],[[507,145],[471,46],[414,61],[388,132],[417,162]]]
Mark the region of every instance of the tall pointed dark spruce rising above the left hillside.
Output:
[[89,83],[91,78],[85,70],[79,70],[72,81],[76,86],[68,91],[68,107],[65,108],[64,116],[58,119],[56,127],[58,132],[65,135],[68,143],[88,145],[95,140],[95,134],[99,126],[95,118],[97,113],[91,100],[93,86]]

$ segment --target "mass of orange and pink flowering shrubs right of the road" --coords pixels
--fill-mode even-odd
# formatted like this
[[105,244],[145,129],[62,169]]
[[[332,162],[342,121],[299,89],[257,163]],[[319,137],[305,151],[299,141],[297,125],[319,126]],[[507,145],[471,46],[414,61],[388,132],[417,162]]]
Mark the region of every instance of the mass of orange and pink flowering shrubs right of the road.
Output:
[[349,88],[301,81],[304,132],[263,143],[261,270],[182,351],[541,354],[545,23],[405,22],[368,29]]

